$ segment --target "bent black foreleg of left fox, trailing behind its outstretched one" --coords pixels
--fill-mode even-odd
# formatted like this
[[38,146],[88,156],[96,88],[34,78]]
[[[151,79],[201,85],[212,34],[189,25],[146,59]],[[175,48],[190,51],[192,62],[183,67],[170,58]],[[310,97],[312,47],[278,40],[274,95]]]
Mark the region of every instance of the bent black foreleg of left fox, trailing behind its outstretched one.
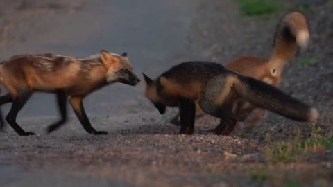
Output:
[[67,101],[67,96],[65,94],[65,91],[58,90],[57,91],[57,103],[58,103],[58,108],[60,111],[61,118],[59,121],[56,123],[53,123],[49,125],[47,128],[47,132],[51,133],[54,130],[57,130],[59,127],[65,124],[67,121],[67,106],[66,106],[66,101]]

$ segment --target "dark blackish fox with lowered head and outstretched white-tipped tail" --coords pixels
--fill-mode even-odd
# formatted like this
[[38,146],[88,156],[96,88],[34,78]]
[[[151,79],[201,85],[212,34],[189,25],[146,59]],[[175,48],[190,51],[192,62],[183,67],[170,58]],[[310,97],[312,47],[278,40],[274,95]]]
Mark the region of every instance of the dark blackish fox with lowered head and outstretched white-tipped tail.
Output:
[[255,78],[240,75],[213,62],[183,62],[155,80],[144,75],[146,98],[160,114],[166,107],[180,110],[180,134],[194,133],[195,101],[203,112],[220,118],[216,132],[228,135],[237,123],[228,106],[230,92],[257,107],[271,110],[296,121],[315,121],[318,112],[296,98]]

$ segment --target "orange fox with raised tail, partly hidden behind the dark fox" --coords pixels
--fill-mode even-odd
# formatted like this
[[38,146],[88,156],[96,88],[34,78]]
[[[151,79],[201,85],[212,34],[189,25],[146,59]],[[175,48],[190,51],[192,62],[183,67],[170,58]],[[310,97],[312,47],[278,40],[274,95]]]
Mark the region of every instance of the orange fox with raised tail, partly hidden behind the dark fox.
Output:
[[[277,87],[280,84],[285,64],[295,57],[298,47],[305,48],[308,43],[309,24],[307,17],[301,12],[289,12],[282,17],[276,28],[273,39],[273,55],[270,59],[244,56],[226,64],[226,67],[242,75],[262,80]],[[255,127],[257,121],[266,112],[264,109],[257,109],[254,105],[242,100],[235,91],[231,91],[228,98],[230,111],[237,116],[237,121],[246,121],[244,124],[246,125],[246,130]],[[254,110],[256,110],[255,113],[251,114]],[[196,111],[199,114],[202,113],[198,103],[196,103]],[[178,125],[178,117],[179,114],[171,120],[171,123]],[[221,133],[216,132],[216,134]]]

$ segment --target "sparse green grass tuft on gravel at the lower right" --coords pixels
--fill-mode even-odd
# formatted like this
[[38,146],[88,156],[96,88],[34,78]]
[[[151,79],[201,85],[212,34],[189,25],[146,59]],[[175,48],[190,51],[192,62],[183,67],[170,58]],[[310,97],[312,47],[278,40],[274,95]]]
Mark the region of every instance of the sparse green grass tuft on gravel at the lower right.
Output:
[[307,155],[325,154],[326,150],[333,148],[333,136],[324,137],[320,135],[321,128],[312,125],[311,137],[300,141],[300,131],[296,138],[288,143],[282,141],[276,148],[267,149],[266,153],[273,163],[289,163],[300,161]]

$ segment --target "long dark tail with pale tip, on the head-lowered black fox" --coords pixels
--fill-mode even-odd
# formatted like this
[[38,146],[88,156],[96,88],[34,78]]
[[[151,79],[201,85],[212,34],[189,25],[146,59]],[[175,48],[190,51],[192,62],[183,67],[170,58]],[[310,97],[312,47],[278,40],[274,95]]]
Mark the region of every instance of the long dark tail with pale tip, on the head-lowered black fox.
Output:
[[315,108],[302,103],[300,100],[285,94],[255,78],[237,75],[238,82],[234,84],[237,93],[253,105],[268,109],[296,121],[315,121],[318,112]]

